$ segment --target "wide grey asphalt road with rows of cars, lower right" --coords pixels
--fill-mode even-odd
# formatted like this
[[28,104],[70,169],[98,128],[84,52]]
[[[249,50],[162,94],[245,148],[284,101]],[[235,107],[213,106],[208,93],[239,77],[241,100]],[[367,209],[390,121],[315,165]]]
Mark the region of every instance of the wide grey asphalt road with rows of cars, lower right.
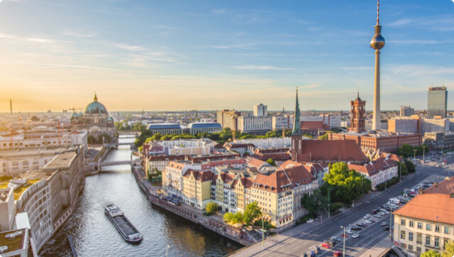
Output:
[[[381,192],[380,195],[373,197],[370,201],[364,202],[341,214],[337,214],[326,222],[312,227],[308,231],[295,234],[294,236],[287,236],[282,241],[277,241],[276,244],[263,250],[261,249],[261,245],[253,246],[256,251],[246,250],[243,254],[239,253],[238,256],[302,256],[304,252],[307,253],[311,251],[313,246],[320,246],[323,250],[323,253],[318,254],[317,256],[333,256],[334,251],[342,251],[343,243],[341,242],[330,249],[321,247],[321,243],[331,236],[338,236],[343,239],[341,236],[341,234],[343,234],[341,226],[349,226],[349,224],[364,221],[363,216],[365,214],[370,214],[372,209],[376,209],[378,206],[385,204],[389,198],[400,195],[404,188],[417,185],[429,175],[433,175],[437,172],[446,173],[446,175],[448,174],[448,170],[441,168],[418,167],[416,170],[416,174],[409,175],[402,180],[402,182]],[[400,206],[402,206],[402,204],[400,204]],[[372,218],[377,220],[377,222],[370,224],[361,231],[356,231],[356,233],[360,234],[358,239],[353,239],[350,235],[348,239],[345,240],[345,256],[362,256],[365,251],[377,245],[386,236],[389,236],[390,232],[383,231],[383,227],[380,226],[382,222],[390,224],[389,215],[380,219],[377,219],[376,217]]]

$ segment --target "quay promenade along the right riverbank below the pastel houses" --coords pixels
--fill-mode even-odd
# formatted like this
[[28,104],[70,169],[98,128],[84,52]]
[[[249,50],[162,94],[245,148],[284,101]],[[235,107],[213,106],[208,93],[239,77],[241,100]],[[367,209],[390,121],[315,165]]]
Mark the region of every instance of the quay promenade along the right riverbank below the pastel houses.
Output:
[[177,214],[179,217],[183,217],[191,222],[200,224],[206,229],[214,231],[221,236],[231,239],[232,241],[236,241],[243,246],[250,246],[251,244],[255,244],[257,242],[245,229],[226,224],[223,222],[222,218],[217,216],[206,217],[201,210],[187,204],[173,205],[164,199],[160,199],[157,194],[157,187],[154,187],[150,182],[148,182],[148,180],[145,179],[145,174],[140,167],[133,167],[133,174],[140,189],[145,192],[152,204]]

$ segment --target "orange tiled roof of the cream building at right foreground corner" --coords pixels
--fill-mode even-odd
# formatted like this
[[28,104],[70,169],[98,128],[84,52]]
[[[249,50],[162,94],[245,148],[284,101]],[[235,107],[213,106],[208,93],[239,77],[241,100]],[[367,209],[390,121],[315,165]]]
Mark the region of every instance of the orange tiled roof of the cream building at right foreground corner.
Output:
[[454,224],[454,198],[445,194],[419,194],[393,214]]

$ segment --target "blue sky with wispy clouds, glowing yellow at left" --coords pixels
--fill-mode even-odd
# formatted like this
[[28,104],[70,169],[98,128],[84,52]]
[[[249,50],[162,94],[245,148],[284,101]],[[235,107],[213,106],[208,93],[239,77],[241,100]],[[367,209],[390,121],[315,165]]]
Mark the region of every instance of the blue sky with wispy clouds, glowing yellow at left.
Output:
[[[0,1],[0,111],[372,109],[375,0]],[[454,2],[382,0],[381,106],[454,109]]]

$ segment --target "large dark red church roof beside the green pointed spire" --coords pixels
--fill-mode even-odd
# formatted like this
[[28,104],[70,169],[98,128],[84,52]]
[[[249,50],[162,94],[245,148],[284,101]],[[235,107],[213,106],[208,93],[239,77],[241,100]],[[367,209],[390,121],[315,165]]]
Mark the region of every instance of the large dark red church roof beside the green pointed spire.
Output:
[[351,140],[303,140],[301,141],[302,154],[298,160],[312,161],[367,161],[360,146]]

